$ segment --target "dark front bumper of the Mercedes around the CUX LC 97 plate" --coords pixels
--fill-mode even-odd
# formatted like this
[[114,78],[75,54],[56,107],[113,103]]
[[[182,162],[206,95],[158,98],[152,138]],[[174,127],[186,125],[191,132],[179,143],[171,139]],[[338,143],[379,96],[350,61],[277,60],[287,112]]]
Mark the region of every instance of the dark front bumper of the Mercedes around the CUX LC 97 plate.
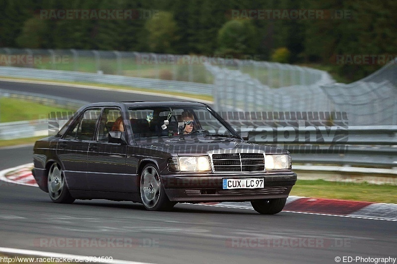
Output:
[[[228,178],[264,178],[265,187],[258,189],[222,189]],[[265,174],[194,174],[162,175],[162,183],[170,201],[226,202],[252,201],[288,197],[297,175],[294,172]]]

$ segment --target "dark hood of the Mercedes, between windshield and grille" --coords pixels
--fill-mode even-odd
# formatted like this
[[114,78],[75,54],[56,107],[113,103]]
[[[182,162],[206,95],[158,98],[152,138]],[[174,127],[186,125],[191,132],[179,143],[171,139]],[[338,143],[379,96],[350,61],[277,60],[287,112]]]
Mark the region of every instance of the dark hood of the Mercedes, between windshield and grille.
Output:
[[224,150],[226,152],[255,152],[265,154],[288,154],[289,152],[266,145],[244,142],[240,139],[221,137],[171,137],[137,141],[144,148],[167,152],[172,155],[199,155],[208,151]]

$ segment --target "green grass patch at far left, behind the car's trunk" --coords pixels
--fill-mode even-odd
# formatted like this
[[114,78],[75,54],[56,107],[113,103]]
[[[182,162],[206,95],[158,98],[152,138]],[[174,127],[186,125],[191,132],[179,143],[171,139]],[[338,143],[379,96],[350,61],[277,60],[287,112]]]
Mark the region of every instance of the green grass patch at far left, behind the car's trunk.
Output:
[[16,98],[0,98],[0,122],[14,122],[46,118],[51,111],[70,111]]

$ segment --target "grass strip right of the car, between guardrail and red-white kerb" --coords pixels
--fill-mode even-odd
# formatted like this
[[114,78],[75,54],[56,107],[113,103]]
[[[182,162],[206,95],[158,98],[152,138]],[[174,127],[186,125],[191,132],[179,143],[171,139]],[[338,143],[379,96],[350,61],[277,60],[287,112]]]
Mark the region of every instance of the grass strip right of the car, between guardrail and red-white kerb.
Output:
[[394,185],[331,182],[325,180],[298,180],[290,195],[351,201],[397,204]]

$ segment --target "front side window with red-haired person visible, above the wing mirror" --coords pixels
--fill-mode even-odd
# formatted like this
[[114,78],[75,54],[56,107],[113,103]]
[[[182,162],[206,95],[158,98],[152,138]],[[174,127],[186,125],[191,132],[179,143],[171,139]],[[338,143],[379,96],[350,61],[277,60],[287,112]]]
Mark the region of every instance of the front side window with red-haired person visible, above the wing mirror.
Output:
[[109,131],[125,131],[121,111],[105,108],[99,120],[97,141],[108,142]]

